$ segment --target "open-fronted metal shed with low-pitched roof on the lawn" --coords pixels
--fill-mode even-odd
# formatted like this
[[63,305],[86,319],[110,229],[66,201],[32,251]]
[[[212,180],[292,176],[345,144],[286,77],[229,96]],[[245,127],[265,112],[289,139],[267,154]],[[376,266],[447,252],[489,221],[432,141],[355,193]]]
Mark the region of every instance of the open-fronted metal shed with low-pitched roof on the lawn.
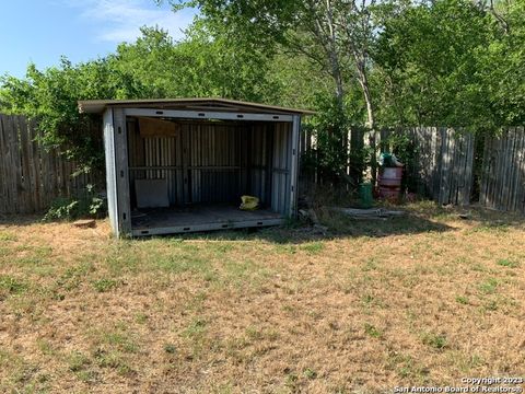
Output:
[[[224,99],[80,101],[103,114],[117,236],[275,225],[295,217],[301,115]],[[240,210],[242,195],[260,208]]]

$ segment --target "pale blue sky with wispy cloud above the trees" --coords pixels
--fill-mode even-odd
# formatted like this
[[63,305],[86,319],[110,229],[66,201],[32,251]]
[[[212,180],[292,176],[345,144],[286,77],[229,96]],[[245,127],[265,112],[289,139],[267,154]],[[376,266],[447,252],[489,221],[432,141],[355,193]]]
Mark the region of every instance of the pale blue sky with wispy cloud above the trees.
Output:
[[113,53],[132,43],[141,26],[159,25],[182,38],[195,10],[174,13],[153,0],[0,0],[0,76],[25,76],[27,63],[38,69]]

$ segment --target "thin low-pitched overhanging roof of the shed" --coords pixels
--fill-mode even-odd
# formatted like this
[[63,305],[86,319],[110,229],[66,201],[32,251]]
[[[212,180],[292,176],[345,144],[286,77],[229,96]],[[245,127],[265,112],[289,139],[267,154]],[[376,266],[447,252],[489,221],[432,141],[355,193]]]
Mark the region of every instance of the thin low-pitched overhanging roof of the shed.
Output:
[[287,108],[276,105],[249,103],[228,99],[151,99],[151,100],[81,100],[79,112],[97,114],[106,107],[163,108],[163,109],[213,109],[215,112],[246,112],[268,114],[302,114],[313,115],[313,111]]

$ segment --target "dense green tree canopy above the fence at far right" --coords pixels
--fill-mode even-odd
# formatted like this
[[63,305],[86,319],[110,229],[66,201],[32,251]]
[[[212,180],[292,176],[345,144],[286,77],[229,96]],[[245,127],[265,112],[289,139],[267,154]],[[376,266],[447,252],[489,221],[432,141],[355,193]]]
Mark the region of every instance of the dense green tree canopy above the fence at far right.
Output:
[[504,18],[468,0],[439,0],[387,18],[374,59],[384,124],[489,130],[524,121],[524,13]]

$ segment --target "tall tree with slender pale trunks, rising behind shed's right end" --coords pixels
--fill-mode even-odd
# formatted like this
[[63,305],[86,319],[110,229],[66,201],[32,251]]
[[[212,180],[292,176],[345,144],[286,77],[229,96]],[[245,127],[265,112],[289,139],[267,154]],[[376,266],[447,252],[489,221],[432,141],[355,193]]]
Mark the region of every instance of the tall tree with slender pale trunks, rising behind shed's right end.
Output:
[[[370,143],[375,150],[375,106],[369,82],[375,39],[374,4],[375,0],[192,0],[176,2],[175,9],[199,7],[214,37],[231,32],[233,37],[243,37],[246,45],[265,53],[281,50],[307,59],[312,68],[318,67],[331,79],[341,115],[347,88],[355,86],[351,82],[357,81],[365,103]],[[375,160],[372,165],[375,170]],[[372,174],[375,177],[375,171]]]

